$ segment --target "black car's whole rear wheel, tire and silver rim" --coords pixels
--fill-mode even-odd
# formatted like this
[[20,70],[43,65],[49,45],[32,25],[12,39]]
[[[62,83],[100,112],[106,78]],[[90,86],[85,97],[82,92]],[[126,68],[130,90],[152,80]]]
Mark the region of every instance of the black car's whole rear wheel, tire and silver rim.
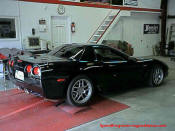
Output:
[[85,75],[79,75],[70,82],[66,101],[73,106],[84,106],[91,100],[93,93],[94,86],[92,81]]

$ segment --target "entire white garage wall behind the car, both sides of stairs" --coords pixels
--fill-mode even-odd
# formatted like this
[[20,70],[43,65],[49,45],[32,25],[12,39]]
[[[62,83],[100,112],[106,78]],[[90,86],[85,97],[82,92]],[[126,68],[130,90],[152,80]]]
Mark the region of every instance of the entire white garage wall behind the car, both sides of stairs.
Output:
[[[160,8],[160,0],[139,0],[139,6],[143,8]],[[7,9],[8,7],[8,9]],[[63,16],[70,17],[75,22],[76,32],[72,34],[72,43],[86,43],[98,28],[111,9],[78,7],[64,5],[66,13]],[[18,2],[13,0],[0,1],[0,15],[15,16],[18,20],[19,39],[15,41],[0,41],[2,47],[20,48],[21,43],[26,44],[27,37],[32,35],[32,28],[36,29],[36,36],[52,42],[51,16],[59,16],[57,4]],[[19,13],[20,11],[20,13]],[[143,24],[160,23],[159,14],[132,13],[131,17],[122,17],[113,30],[107,35],[107,39],[126,40],[133,44],[135,56],[152,55],[152,45],[160,41],[159,35],[143,35]],[[39,19],[45,19],[47,31],[39,32]],[[21,23],[21,24],[20,24]],[[21,36],[20,36],[21,34]],[[21,42],[22,41],[22,42]]]

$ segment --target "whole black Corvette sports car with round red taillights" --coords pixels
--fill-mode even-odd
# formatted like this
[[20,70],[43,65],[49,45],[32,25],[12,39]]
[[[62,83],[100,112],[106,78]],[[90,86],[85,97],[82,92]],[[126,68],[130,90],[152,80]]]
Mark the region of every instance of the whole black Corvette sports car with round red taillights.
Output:
[[86,105],[95,90],[143,81],[156,87],[168,66],[155,59],[138,59],[104,45],[67,44],[41,56],[19,55],[8,62],[10,79],[28,93],[48,99],[66,98]]

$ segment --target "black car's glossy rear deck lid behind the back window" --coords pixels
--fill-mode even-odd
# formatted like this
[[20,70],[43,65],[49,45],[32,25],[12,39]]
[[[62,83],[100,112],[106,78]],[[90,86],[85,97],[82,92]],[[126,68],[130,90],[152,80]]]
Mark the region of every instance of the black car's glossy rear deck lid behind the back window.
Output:
[[50,62],[68,62],[71,59],[60,58],[51,55],[41,55],[41,56],[29,56],[29,55],[21,55],[18,56],[20,60],[30,62],[30,63],[50,63]]

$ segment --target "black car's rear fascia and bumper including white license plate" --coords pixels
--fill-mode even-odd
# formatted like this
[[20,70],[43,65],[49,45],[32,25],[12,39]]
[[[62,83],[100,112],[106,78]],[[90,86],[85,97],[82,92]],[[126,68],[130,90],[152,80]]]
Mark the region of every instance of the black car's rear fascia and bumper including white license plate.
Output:
[[[22,61],[18,63],[15,59],[12,65],[7,65],[7,71],[9,79],[20,88],[24,89],[26,92],[37,94],[48,99],[58,99],[65,97],[65,83],[58,82],[57,79],[64,76],[55,76],[53,72],[42,70],[41,76],[33,75],[32,73],[27,73],[26,65],[32,65],[33,63],[27,63]],[[35,65],[32,65],[35,66]],[[66,79],[66,78],[65,78]]]

